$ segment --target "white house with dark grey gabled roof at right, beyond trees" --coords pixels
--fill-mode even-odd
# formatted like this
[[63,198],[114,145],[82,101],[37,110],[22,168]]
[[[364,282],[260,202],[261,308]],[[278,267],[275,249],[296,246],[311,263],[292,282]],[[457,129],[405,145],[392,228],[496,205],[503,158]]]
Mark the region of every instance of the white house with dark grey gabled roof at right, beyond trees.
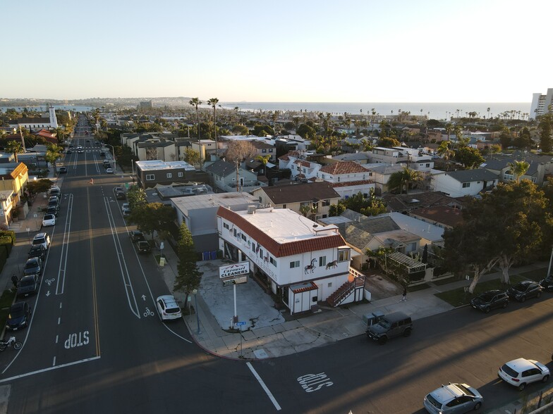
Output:
[[433,191],[443,192],[447,196],[475,196],[497,186],[499,176],[485,170],[438,171],[432,170],[430,187]]

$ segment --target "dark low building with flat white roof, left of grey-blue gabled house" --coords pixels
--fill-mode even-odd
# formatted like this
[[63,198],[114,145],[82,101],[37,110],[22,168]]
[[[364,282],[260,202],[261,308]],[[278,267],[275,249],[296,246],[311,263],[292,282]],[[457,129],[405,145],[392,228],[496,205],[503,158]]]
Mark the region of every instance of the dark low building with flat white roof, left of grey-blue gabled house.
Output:
[[186,161],[136,161],[135,166],[138,185],[144,189],[155,187],[156,184],[167,185],[198,180],[196,169]]

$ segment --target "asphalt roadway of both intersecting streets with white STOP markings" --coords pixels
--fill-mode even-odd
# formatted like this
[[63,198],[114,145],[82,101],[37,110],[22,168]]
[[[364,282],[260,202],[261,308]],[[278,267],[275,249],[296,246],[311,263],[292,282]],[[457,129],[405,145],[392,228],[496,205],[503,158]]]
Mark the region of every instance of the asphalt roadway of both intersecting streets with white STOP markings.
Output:
[[167,288],[128,238],[113,194],[121,177],[104,173],[92,137],[75,141],[89,148],[66,158],[32,324],[17,333],[23,349],[0,354],[5,412],[413,413],[447,382],[478,388],[485,412],[519,395],[497,380],[502,363],[523,356],[552,368],[551,294],[417,320],[411,337],[384,346],[354,337],[253,363],[209,356],[182,321],[159,321],[154,299]]

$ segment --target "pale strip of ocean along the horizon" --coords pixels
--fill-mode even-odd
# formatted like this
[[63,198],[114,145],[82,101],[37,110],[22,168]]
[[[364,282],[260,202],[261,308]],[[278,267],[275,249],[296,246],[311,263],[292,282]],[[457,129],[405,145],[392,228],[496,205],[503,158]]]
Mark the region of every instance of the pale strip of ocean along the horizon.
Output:
[[508,111],[530,113],[530,102],[221,102],[226,109],[240,108],[241,111],[282,111],[282,112],[322,112],[332,115],[371,115],[372,108],[379,115],[394,115],[401,112],[410,112],[411,115],[427,115],[433,119],[449,119],[468,116],[469,112],[479,114],[480,118],[488,118],[487,108],[490,108],[490,117]]

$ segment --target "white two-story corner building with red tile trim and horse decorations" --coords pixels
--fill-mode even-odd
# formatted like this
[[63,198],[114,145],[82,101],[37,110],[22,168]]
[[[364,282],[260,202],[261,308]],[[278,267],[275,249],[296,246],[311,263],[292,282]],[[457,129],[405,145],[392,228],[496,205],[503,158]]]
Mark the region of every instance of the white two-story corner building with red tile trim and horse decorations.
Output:
[[217,230],[224,256],[249,261],[291,314],[319,301],[336,306],[363,299],[365,278],[350,275],[351,250],[335,225],[317,225],[288,208],[220,207]]

